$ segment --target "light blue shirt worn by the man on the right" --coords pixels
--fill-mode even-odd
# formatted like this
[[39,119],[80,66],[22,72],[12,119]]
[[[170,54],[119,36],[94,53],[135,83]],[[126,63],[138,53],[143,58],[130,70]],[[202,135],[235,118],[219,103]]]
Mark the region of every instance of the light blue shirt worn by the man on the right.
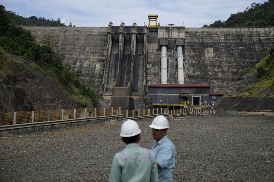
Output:
[[156,161],[161,167],[158,169],[159,182],[173,182],[172,173],[175,167],[175,146],[168,139],[168,136],[164,136],[161,140],[156,143],[154,140],[154,145],[152,147],[152,152],[156,156]]

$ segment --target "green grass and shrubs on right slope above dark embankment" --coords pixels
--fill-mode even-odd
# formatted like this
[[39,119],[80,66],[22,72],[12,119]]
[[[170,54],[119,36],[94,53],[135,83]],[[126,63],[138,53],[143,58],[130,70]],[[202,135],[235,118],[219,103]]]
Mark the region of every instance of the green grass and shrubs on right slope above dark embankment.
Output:
[[[270,54],[261,60],[254,69],[250,68],[247,74],[256,74],[257,81],[240,92],[234,93],[233,96],[274,97],[274,42]],[[239,80],[241,80],[240,77]]]

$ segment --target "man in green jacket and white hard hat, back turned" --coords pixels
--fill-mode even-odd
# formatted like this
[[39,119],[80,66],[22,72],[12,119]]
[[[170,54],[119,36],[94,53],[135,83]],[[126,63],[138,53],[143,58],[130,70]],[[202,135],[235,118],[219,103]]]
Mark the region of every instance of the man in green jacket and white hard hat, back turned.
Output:
[[126,148],[115,154],[110,169],[109,181],[158,181],[158,169],[153,152],[141,148],[141,130],[136,121],[126,120],[121,127],[120,136]]

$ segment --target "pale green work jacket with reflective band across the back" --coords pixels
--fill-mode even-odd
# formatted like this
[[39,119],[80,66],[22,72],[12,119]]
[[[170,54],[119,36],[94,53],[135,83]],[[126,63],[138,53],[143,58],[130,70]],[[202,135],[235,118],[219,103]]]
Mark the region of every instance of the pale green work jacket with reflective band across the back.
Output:
[[137,143],[131,143],[115,154],[109,182],[158,182],[155,155]]

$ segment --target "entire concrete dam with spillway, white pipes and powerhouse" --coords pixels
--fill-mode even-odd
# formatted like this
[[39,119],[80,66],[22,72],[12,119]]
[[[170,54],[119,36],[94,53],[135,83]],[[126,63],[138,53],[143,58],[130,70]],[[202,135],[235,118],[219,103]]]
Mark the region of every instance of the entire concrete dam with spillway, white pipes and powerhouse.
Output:
[[186,28],[148,18],[148,26],[23,28],[38,42],[51,35],[64,63],[95,81],[98,107],[121,109],[211,103],[214,91],[254,67],[273,42],[273,27]]

